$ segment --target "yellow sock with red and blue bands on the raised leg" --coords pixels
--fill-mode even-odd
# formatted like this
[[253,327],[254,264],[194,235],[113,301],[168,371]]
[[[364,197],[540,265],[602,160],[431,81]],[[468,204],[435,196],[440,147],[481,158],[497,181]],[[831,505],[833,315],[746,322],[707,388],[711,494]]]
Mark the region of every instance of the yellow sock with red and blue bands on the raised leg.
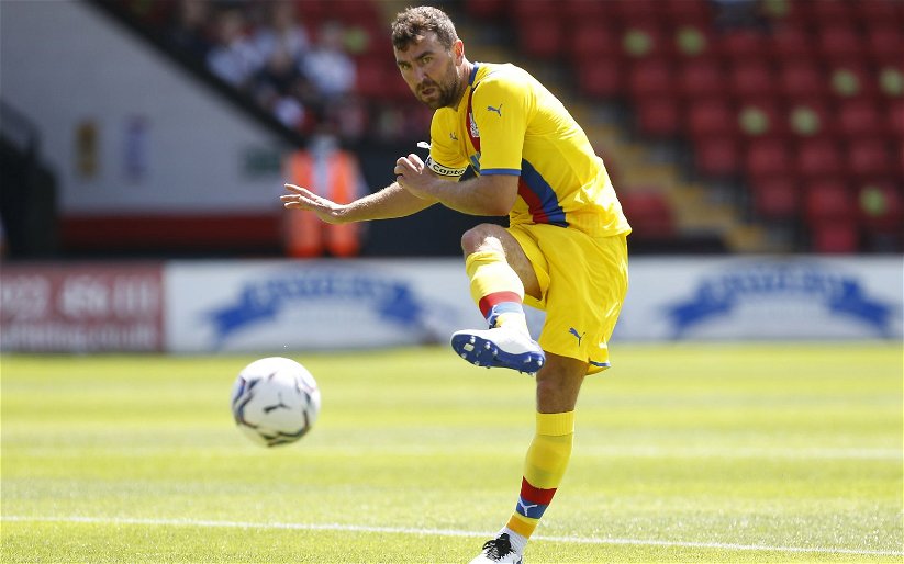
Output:
[[490,327],[515,324],[527,331],[524,317],[524,284],[499,250],[480,250],[465,259],[471,281],[471,297]]

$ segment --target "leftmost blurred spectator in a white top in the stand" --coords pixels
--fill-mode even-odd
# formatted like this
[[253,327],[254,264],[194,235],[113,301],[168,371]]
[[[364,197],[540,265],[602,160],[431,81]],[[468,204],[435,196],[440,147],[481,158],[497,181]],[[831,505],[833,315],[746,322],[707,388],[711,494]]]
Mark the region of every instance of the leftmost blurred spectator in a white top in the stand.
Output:
[[264,58],[245,33],[241,10],[227,8],[216,16],[216,44],[208,53],[208,68],[230,84],[244,89],[264,66]]

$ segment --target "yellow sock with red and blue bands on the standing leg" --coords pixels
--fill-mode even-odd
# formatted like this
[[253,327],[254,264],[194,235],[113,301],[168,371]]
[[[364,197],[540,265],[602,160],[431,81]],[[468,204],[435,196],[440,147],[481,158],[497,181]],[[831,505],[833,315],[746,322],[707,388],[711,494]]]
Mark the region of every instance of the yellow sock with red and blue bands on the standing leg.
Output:
[[524,460],[521,496],[506,527],[525,539],[534,533],[571,459],[574,411],[537,413],[537,430]]

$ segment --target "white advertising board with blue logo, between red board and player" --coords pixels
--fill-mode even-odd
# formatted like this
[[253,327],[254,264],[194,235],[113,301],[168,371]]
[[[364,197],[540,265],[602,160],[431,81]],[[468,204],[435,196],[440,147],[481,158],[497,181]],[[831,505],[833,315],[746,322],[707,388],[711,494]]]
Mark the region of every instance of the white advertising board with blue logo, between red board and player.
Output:
[[174,352],[447,342],[486,326],[460,260],[171,262],[166,283]]

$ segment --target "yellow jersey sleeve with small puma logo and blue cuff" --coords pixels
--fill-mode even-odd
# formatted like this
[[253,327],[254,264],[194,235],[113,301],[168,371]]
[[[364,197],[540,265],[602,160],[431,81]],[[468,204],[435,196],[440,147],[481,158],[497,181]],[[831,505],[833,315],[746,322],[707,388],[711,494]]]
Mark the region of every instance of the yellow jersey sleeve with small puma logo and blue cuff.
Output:
[[529,90],[510,77],[492,77],[475,89],[471,111],[480,132],[480,173],[521,176]]

